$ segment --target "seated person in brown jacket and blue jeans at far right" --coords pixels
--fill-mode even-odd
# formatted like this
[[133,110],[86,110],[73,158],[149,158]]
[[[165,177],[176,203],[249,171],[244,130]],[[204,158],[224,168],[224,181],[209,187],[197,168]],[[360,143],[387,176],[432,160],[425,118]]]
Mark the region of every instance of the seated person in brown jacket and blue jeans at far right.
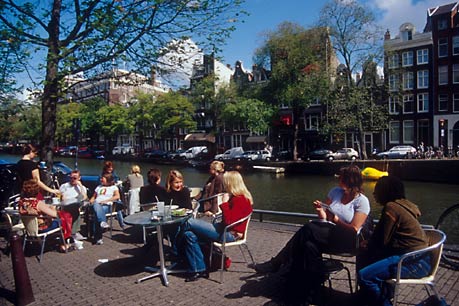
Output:
[[[400,256],[428,246],[428,239],[418,221],[419,208],[405,198],[405,187],[395,176],[383,176],[374,190],[375,200],[383,206],[379,222],[367,246],[368,262],[359,271],[361,297],[368,305],[392,305],[390,294],[381,286],[394,278]],[[421,278],[430,272],[430,253],[416,258],[402,270],[404,278]]]

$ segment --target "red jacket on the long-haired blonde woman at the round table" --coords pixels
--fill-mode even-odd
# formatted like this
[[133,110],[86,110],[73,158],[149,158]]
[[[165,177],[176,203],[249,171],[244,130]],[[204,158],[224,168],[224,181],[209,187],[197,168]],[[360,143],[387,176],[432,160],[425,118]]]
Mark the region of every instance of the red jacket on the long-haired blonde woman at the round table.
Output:
[[[229,202],[220,205],[223,213],[223,224],[232,224],[244,217],[247,217],[252,212],[252,204],[243,195],[233,196]],[[234,226],[231,230],[244,234],[247,221]]]

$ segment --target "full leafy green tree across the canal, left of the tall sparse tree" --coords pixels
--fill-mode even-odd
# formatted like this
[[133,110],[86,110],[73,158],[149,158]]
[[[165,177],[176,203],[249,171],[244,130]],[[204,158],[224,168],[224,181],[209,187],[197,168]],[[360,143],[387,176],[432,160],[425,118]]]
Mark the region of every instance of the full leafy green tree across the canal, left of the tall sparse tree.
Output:
[[293,115],[293,158],[298,158],[299,118],[303,109],[316,99],[323,99],[329,88],[328,33],[324,28],[305,28],[282,23],[268,33],[264,45],[256,51],[257,64],[271,65],[271,78],[264,88],[271,103],[288,105]]

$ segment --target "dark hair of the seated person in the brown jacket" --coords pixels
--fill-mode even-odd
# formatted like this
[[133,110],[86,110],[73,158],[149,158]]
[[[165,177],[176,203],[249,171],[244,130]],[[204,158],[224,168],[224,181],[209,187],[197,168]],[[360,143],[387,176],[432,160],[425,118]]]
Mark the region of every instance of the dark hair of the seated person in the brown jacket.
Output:
[[386,205],[389,202],[404,199],[405,186],[396,176],[383,176],[376,182],[374,196],[376,202]]

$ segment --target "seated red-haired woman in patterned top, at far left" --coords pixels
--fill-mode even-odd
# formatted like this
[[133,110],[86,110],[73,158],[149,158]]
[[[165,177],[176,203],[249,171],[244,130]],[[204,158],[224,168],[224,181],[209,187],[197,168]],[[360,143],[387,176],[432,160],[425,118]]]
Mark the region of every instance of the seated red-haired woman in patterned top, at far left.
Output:
[[[52,218],[37,218],[38,220],[38,232],[39,233],[46,233],[53,229],[59,228],[61,226],[60,215],[65,215],[65,218],[69,219],[70,226],[71,226],[71,216],[69,213],[64,211],[56,211],[54,206],[48,205],[42,200],[37,199],[37,195],[40,192],[40,186],[38,185],[37,181],[27,180],[22,185],[22,194],[21,198],[19,199],[19,213],[21,215],[28,215],[28,216],[48,216]],[[64,231],[64,239],[70,237],[72,231],[71,227],[67,228],[67,232]],[[70,247],[69,244],[63,243],[60,246],[61,251],[65,251]]]

